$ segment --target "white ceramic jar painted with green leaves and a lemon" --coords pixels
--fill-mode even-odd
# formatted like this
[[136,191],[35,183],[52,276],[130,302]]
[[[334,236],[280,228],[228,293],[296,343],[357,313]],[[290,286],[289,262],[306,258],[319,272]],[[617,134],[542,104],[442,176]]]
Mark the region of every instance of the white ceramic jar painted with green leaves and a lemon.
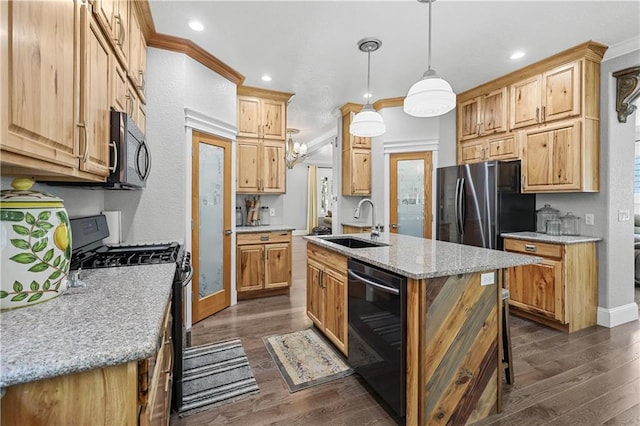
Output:
[[71,228],[62,200],[14,179],[0,199],[0,309],[44,302],[67,289]]

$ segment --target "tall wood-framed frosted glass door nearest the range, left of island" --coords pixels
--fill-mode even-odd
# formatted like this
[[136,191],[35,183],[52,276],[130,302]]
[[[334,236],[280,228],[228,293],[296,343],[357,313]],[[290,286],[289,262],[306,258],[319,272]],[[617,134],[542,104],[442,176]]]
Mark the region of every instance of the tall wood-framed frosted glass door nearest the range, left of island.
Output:
[[230,305],[229,142],[193,136],[193,320]]

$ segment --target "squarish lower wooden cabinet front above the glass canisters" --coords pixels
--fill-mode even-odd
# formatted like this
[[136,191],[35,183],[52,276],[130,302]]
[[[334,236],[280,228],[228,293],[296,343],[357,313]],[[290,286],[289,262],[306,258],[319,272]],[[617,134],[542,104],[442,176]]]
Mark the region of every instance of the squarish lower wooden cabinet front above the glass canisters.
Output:
[[523,140],[526,191],[579,190],[580,122],[531,131]]

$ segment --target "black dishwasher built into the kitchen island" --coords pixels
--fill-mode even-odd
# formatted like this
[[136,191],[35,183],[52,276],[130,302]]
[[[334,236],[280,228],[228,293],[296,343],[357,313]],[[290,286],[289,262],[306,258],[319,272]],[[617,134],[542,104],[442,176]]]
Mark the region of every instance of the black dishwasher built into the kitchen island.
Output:
[[406,278],[350,259],[349,365],[405,416]]

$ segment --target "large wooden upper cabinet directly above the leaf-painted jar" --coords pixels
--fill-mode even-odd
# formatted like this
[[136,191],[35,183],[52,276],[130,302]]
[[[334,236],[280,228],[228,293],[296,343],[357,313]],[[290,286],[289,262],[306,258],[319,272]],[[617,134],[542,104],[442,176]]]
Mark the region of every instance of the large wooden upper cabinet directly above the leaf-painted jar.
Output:
[[0,2],[4,175],[108,175],[112,52],[88,7]]

